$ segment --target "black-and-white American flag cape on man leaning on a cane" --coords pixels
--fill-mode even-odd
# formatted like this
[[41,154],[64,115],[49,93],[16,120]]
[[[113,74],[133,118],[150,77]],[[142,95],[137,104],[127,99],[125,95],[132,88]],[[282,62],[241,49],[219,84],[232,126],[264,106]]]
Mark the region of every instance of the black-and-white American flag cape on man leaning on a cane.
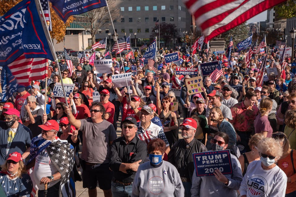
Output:
[[[51,162],[53,162],[54,166],[57,168],[59,173],[61,174],[61,182],[59,186],[59,196],[60,197],[75,197],[75,183],[72,178],[73,175],[73,166],[74,166],[74,148],[68,143],[66,140],[60,140],[56,137],[55,142],[47,142],[45,145],[41,145],[38,147],[38,142],[45,141],[41,134],[34,137],[31,142],[30,147],[30,162],[34,162],[33,160],[38,156],[44,149],[46,149]],[[28,164],[27,163],[27,164]],[[34,180],[33,171],[30,172],[30,177],[32,181]],[[36,183],[36,180],[33,182]],[[33,188],[37,189],[37,185],[34,184]],[[31,194],[32,195],[32,194]]]

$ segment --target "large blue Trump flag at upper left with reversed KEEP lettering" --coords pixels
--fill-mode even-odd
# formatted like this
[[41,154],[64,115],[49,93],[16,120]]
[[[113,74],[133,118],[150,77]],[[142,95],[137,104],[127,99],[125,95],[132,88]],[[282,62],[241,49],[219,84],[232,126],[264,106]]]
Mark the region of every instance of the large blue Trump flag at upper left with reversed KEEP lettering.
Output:
[[25,58],[54,60],[34,0],[23,0],[0,17],[0,66]]

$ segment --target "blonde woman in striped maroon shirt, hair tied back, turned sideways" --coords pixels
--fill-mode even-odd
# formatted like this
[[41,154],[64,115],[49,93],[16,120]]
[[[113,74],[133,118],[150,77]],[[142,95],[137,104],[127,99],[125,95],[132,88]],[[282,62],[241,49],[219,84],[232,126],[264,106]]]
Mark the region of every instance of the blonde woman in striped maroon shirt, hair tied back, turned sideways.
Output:
[[260,114],[257,115],[254,123],[255,133],[262,133],[264,137],[271,137],[273,129],[268,120],[268,114],[272,109],[273,101],[268,98],[262,98],[260,101]]

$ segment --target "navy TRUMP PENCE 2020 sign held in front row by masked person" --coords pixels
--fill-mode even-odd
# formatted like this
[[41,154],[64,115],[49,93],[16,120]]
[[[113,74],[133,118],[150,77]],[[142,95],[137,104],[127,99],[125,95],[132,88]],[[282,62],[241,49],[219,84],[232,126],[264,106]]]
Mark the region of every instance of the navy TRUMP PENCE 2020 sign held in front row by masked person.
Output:
[[230,150],[192,153],[196,176],[215,176],[215,170],[232,174]]

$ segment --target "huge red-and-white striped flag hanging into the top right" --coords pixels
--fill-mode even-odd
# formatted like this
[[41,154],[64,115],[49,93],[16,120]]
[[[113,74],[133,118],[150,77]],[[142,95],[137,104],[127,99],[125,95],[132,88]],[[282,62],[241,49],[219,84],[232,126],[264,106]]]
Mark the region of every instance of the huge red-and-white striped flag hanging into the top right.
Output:
[[285,0],[183,0],[206,40],[232,29]]

